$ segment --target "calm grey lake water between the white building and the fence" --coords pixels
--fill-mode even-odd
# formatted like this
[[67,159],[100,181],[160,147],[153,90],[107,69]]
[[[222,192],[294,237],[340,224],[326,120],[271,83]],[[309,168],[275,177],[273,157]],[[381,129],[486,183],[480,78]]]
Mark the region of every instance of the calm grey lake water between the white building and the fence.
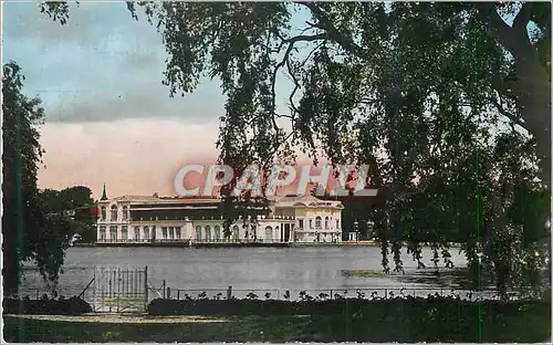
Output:
[[[456,266],[466,260],[457,249],[451,250]],[[345,276],[343,270],[375,270],[380,272],[380,251],[376,247],[304,247],[304,248],[70,248],[59,291],[64,295],[79,294],[94,275],[94,269],[148,266],[153,286],[181,290],[330,290],[359,288],[424,288],[437,286],[414,283],[401,275],[377,278]],[[390,258],[392,260],[392,258]],[[404,249],[406,275],[413,275],[417,263]],[[430,250],[424,251],[424,262],[432,266]],[[442,264],[441,264],[442,266]],[[45,290],[35,271],[25,273],[22,292]]]

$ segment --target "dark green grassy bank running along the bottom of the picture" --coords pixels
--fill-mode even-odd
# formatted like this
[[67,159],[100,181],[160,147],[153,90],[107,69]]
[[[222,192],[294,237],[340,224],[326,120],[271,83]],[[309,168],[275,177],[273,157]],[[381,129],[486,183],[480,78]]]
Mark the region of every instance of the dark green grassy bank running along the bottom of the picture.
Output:
[[[9,342],[488,342],[551,338],[551,305],[543,302],[447,309],[398,304],[312,315],[233,315],[226,322],[122,324],[4,318]],[[459,311],[456,313],[455,309]],[[409,310],[410,309],[410,310]],[[19,332],[19,326],[23,332]]]

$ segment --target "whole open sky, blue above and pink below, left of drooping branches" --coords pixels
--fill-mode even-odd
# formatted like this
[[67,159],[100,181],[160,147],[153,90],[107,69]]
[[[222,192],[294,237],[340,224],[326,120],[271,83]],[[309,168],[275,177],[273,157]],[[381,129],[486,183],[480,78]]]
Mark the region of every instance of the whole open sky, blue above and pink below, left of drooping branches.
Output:
[[40,188],[83,185],[98,198],[105,184],[108,197],[175,195],[184,164],[215,163],[219,82],[170,98],[161,36],[144,15],[133,20],[125,2],[73,4],[65,25],[35,2],[3,1],[2,13],[2,64],[20,65],[23,93],[45,109]]

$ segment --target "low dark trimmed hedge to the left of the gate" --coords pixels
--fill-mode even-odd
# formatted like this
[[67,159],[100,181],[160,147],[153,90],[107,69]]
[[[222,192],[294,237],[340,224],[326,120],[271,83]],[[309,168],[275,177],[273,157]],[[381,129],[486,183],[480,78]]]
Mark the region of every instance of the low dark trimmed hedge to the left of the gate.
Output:
[[41,300],[4,299],[2,306],[6,314],[79,315],[92,313],[91,305],[76,296],[69,300],[64,297],[55,300],[48,296],[42,296]]

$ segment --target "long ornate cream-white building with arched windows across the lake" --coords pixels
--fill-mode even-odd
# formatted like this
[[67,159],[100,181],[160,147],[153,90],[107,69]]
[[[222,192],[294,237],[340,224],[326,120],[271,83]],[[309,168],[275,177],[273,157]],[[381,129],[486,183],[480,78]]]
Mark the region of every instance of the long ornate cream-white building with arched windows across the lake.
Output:
[[326,242],[342,241],[341,201],[313,196],[275,197],[252,207],[255,219],[238,219],[223,237],[221,199],[122,196],[98,201],[97,244]]

